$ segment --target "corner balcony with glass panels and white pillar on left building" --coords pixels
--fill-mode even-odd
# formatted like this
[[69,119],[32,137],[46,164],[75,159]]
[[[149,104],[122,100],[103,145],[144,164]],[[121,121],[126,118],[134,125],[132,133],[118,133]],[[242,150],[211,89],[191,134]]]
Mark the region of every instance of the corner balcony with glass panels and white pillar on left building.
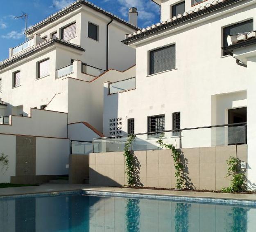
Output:
[[84,81],[92,81],[97,76],[104,73],[104,71],[104,69],[99,69],[82,63],[81,60],[74,60],[72,64],[56,70],[56,79],[62,77],[71,77]]

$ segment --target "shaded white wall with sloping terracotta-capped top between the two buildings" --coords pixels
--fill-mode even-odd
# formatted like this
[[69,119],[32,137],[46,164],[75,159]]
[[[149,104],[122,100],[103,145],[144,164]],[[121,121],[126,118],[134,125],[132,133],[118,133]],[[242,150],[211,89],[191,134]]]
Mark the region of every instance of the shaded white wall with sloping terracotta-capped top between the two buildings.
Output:
[[68,78],[68,123],[85,121],[102,132],[103,83],[106,81],[115,82],[135,76],[135,69],[136,67],[134,66],[125,72],[109,70],[91,83]]

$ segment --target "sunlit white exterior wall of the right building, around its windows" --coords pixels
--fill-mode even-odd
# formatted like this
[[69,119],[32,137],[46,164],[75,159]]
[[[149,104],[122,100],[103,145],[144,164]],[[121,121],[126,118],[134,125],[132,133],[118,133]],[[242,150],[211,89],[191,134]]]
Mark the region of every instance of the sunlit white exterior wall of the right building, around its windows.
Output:
[[[147,132],[147,116],[165,114],[165,129],[172,129],[172,113],[181,112],[181,128],[200,127],[227,123],[227,109],[247,106],[248,177],[256,183],[255,60],[241,67],[233,57],[222,57],[221,49],[222,27],[254,18],[254,2],[245,1],[228,12],[224,9],[132,44],[136,47],[136,90],[105,96],[105,136],[109,136],[110,118],[122,117],[124,132],[127,118],[135,118],[135,133],[142,133]],[[149,51],[174,43],[176,69],[149,76]],[[187,134],[190,140],[206,136],[210,138],[211,132]]]

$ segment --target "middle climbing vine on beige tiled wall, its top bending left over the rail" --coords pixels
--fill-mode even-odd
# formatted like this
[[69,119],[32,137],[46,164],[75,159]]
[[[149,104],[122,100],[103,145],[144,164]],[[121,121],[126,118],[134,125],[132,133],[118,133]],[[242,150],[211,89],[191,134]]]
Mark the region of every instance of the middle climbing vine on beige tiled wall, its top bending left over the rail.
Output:
[[156,141],[160,145],[161,148],[170,149],[172,151],[172,158],[174,161],[174,168],[175,168],[175,177],[176,177],[176,187],[177,189],[182,189],[184,187],[184,165],[181,162],[181,154],[178,149],[174,147],[172,144],[163,143],[163,136],[161,135],[159,140]]

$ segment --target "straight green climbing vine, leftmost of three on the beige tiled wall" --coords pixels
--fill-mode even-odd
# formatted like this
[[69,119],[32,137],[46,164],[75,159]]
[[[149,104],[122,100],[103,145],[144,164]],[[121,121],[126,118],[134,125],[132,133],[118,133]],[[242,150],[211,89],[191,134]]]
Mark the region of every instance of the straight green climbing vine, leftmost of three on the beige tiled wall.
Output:
[[125,173],[127,175],[127,185],[132,186],[135,184],[134,177],[134,154],[130,151],[131,143],[134,141],[135,136],[133,134],[129,135],[127,141],[125,142],[124,156],[125,156]]

